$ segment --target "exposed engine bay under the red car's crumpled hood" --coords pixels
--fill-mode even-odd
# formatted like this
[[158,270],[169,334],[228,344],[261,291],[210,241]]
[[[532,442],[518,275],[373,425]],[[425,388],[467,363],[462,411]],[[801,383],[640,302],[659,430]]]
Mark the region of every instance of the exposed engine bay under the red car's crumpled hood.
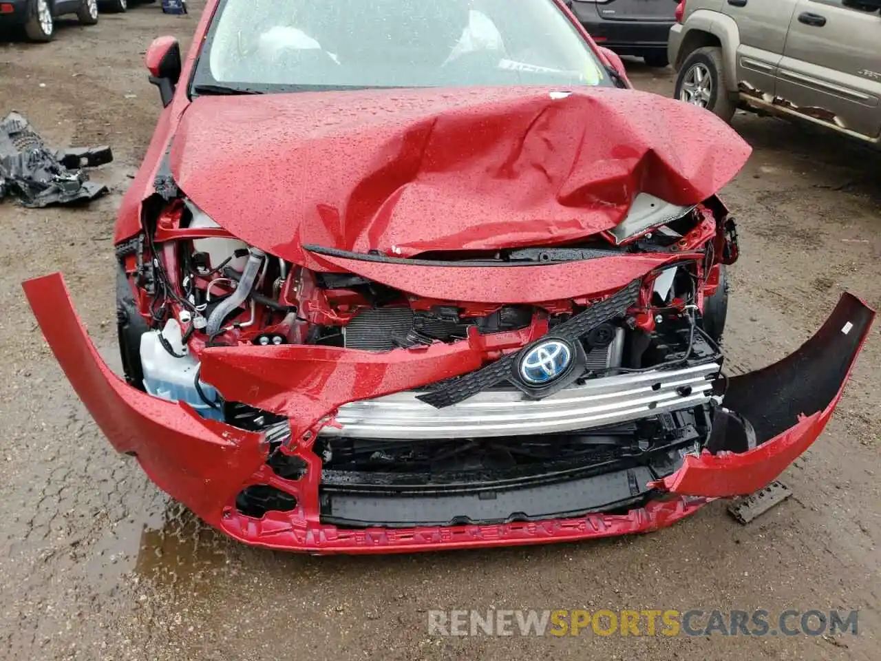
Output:
[[[727,307],[724,264],[737,256],[721,203],[699,206],[625,246],[587,245],[466,253],[456,264],[558,264],[610,254],[677,251],[643,280],[639,307],[584,339],[581,379],[671,367],[718,354]],[[146,224],[145,224],[146,225]],[[183,399],[223,420],[222,402],[198,379],[214,345],[329,345],[360,351],[416,349],[485,338],[486,360],[553,334],[593,301],[500,305],[437,301],[352,273],[313,271],[248,247],[187,199],[165,204],[152,227],[117,250],[123,366],[131,385]],[[449,254],[421,263],[450,264]],[[500,266],[500,268],[506,268]]]

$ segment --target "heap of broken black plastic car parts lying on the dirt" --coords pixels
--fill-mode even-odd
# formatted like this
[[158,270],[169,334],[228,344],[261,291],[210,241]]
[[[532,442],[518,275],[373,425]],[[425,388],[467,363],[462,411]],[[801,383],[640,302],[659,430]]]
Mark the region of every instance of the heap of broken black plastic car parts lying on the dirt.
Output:
[[112,160],[108,146],[53,152],[18,113],[0,120],[0,200],[15,196],[32,208],[93,200],[107,186],[90,182],[83,168]]

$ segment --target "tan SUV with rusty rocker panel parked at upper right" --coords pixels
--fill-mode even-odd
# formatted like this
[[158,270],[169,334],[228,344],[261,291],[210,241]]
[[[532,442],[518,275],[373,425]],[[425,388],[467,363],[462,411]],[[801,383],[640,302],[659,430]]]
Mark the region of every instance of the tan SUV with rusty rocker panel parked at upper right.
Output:
[[677,99],[881,144],[881,0],[684,0],[670,29]]

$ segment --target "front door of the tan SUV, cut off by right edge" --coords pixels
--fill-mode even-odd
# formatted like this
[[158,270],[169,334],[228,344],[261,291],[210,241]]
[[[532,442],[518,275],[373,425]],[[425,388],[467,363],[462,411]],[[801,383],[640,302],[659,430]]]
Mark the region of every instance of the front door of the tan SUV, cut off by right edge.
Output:
[[881,134],[881,15],[850,0],[798,0],[778,102],[862,137]]

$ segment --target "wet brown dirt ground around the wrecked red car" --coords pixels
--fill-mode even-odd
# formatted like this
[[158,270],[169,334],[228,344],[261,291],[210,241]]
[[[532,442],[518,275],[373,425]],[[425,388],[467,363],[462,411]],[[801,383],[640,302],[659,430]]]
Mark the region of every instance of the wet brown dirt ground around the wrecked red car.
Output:
[[[51,143],[109,143],[93,173],[113,194],[84,209],[0,204],[0,657],[16,659],[877,659],[881,608],[881,326],[819,442],[783,475],[795,497],[742,526],[713,503],[655,534],[596,543],[407,557],[314,558],[233,543],[115,455],[74,396],[21,280],[63,271],[102,353],[115,352],[115,207],[159,114],[143,52],[189,16],[157,5],[61,27],[54,43],[0,41],[0,114]],[[670,70],[629,63],[669,94]],[[850,290],[881,304],[881,156],[738,114],[755,152],[725,190],[742,258],[729,368],[797,348]],[[432,609],[860,609],[831,637],[428,635]]]

